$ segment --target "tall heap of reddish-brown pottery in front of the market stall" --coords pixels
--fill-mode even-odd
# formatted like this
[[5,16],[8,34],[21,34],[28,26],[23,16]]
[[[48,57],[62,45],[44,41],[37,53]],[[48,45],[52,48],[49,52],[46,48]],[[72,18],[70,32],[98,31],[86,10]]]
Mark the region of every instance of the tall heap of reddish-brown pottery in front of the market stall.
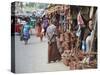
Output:
[[62,47],[64,51],[61,55],[63,63],[70,69],[79,68],[79,57],[83,57],[83,55],[76,48],[77,37],[74,33],[66,32],[63,39]]

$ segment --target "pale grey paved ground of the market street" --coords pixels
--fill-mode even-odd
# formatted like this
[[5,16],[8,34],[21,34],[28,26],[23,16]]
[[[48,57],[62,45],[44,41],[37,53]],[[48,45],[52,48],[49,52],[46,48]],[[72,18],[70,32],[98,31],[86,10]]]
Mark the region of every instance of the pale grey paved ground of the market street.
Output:
[[28,45],[15,37],[15,67],[16,73],[62,71],[68,70],[62,62],[47,63],[47,39],[41,42],[36,36],[31,36]]

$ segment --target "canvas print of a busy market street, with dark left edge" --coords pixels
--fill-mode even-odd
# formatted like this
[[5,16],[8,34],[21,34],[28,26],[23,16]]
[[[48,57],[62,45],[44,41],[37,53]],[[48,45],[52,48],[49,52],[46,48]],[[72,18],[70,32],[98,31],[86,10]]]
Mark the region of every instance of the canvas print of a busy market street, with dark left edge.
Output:
[[13,2],[11,8],[12,72],[97,68],[97,7]]

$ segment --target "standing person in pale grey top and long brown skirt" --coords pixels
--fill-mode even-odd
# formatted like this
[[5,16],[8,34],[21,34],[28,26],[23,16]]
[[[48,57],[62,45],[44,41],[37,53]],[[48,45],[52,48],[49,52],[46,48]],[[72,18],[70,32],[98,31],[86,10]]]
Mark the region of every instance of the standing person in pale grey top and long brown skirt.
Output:
[[48,63],[51,61],[60,60],[61,56],[57,49],[57,41],[56,41],[56,26],[53,22],[47,28],[47,38],[48,38]]

